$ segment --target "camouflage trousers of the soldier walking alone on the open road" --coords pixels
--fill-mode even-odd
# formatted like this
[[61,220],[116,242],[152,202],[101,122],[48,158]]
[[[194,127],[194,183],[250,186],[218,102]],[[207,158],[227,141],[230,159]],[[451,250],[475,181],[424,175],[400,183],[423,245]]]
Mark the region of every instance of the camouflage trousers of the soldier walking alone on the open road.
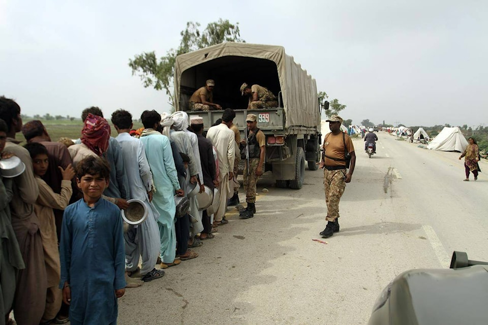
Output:
[[324,169],[325,203],[327,204],[327,221],[339,218],[339,201],[346,188],[345,169],[329,171]]

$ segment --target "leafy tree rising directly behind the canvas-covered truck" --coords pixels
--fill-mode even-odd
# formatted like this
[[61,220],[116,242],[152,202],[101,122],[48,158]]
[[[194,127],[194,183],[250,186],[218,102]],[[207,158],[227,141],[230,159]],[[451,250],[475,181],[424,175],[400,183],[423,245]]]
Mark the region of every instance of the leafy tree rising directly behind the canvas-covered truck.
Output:
[[138,75],[144,87],[166,90],[170,104],[174,107],[174,98],[170,88],[173,86],[174,63],[176,56],[192,52],[207,46],[224,42],[245,42],[240,38],[239,23],[231,24],[229,20],[211,22],[200,31],[200,23],[187,22],[187,28],[180,32],[181,42],[177,49],[170,49],[165,56],[156,57],[155,51],[143,52],[129,59],[132,75]]

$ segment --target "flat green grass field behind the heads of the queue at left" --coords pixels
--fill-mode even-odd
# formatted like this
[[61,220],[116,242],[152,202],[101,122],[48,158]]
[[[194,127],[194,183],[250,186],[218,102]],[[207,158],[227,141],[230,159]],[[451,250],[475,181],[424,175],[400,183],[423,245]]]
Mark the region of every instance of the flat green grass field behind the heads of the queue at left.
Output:
[[[24,119],[22,122],[27,123],[28,121],[33,120],[31,119]],[[81,129],[83,127],[83,123],[81,122],[81,119],[75,119],[75,120],[40,120],[44,126],[46,127],[47,133],[51,137],[51,140],[54,142],[57,142],[59,138],[66,137],[70,139],[78,139],[81,135]],[[113,124],[108,121],[110,124],[110,128],[112,131],[112,137],[117,136],[117,131],[115,131],[115,127],[113,127]],[[142,123],[139,121],[134,121],[134,127],[135,129],[138,129],[142,127]],[[16,135],[17,140],[21,140],[25,142],[24,136],[22,133],[18,133]],[[22,143],[23,144],[23,143]]]

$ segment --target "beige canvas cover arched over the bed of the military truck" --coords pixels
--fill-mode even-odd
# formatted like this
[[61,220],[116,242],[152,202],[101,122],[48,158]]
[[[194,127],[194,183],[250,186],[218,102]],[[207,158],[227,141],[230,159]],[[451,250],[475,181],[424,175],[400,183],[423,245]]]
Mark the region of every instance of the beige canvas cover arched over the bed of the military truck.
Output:
[[[259,84],[282,99],[286,127],[320,127],[320,112],[315,79],[285,53],[282,46],[248,43],[222,43],[176,57],[174,99],[176,111],[187,110],[181,101],[182,89],[194,91],[214,79],[214,102],[233,109],[246,108],[239,87]],[[281,90],[281,94],[279,94]],[[219,97],[220,96],[220,97]]]

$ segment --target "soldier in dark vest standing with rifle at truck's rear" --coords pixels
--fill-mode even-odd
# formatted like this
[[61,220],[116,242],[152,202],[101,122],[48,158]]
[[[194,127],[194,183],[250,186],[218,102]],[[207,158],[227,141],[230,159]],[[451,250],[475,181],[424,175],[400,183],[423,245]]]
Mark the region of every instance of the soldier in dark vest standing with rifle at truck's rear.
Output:
[[266,138],[264,133],[257,127],[257,116],[248,114],[246,122],[249,131],[248,139],[246,139],[249,146],[249,173],[246,164],[244,167],[244,188],[246,189],[248,207],[239,213],[241,219],[252,218],[256,213],[256,182],[259,176],[263,174],[264,157],[266,155]]

